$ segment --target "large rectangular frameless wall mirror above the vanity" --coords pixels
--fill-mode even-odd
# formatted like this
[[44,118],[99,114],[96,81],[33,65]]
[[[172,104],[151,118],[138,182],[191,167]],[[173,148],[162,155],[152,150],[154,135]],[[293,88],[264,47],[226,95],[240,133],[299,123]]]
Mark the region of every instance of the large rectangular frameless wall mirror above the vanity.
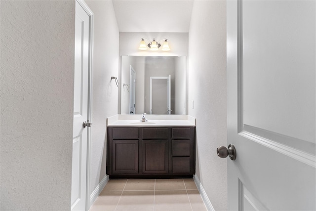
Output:
[[185,56],[122,56],[121,114],[187,114]]

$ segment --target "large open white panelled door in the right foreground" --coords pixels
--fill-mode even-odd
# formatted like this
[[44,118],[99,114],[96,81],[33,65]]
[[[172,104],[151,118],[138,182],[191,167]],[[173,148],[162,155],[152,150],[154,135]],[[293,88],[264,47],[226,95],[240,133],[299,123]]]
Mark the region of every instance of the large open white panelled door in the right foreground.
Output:
[[315,210],[315,1],[227,1],[229,210]]

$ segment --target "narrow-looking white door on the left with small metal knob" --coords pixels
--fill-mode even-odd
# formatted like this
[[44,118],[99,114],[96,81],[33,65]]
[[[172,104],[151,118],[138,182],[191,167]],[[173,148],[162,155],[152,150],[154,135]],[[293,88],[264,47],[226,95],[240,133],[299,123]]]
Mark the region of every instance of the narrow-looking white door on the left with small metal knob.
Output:
[[76,1],[75,91],[72,166],[72,211],[86,210],[87,138],[89,120],[89,15]]

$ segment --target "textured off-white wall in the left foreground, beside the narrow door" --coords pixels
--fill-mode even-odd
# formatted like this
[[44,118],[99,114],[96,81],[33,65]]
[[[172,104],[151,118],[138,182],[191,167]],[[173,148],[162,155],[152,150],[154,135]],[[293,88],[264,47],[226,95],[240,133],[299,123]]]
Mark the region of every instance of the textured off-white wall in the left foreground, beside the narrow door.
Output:
[[0,210],[69,211],[75,1],[0,4]]

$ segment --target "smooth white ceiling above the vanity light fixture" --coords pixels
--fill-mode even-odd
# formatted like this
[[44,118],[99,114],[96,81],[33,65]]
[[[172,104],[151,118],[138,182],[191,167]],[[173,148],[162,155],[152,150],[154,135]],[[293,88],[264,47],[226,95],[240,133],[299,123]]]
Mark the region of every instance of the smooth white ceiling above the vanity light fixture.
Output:
[[112,2],[120,32],[189,32],[194,0]]

